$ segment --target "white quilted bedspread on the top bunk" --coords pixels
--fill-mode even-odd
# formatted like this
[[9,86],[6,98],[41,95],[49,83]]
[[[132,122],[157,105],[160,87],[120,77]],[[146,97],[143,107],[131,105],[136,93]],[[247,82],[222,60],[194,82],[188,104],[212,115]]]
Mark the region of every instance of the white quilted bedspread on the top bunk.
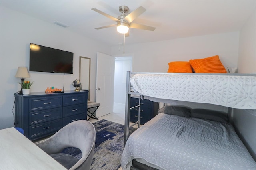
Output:
[[136,74],[130,82],[144,96],[256,109],[256,76]]

